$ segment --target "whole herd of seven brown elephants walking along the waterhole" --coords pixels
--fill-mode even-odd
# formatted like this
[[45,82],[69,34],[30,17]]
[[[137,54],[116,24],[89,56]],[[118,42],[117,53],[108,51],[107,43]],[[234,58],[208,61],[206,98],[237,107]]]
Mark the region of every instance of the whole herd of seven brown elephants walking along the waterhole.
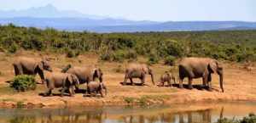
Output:
[[[91,95],[104,94],[107,95],[107,87],[103,84],[103,73],[98,67],[93,66],[73,66],[68,64],[60,72],[53,71],[49,65],[49,60],[42,59],[36,60],[32,58],[19,57],[15,59],[13,63],[15,69],[15,75],[39,75],[42,83],[46,82],[47,91],[45,96],[51,96],[52,90],[55,88],[61,88],[61,96],[65,91],[68,91],[70,96],[73,96],[75,90],[79,90],[80,84],[86,84],[85,94]],[[178,64],[179,73],[179,87],[183,88],[183,79],[187,77],[189,79],[189,89],[192,89],[192,81],[195,78],[202,78],[202,84],[212,90],[212,74],[219,75],[219,85],[224,92],[223,87],[223,67],[216,59],[209,58],[183,58]],[[151,76],[151,81],[154,84],[154,71],[147,64],[131,63],[125,69],[125,78],[122,85],[127,84],[127,80],[131,81],[131,85],[134,85],[132,79],[138,78],[142,81],[142,85],[145,84],[146,75]],[[96,81],[98,79],[98,81]],[[172,81],[175,83],[175,77],[172,73],[165,72],[160,76],[160,84],[158,86],[164,86],[165,82],[168,86],[172,87]],[[105,92],[103,92],[105,90]]]

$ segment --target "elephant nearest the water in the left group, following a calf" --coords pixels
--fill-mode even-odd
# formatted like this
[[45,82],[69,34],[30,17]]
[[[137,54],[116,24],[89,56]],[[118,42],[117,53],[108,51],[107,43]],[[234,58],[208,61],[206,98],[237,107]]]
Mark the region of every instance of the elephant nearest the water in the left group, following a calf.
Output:
[[61,72],[48,72],[45,75],[45,81],[48,90],[44,93],[45,96],[52,94],[54,88],[61,88],[61,97],[63,97],[65,90],[69,91],[71,97],[73,97],[74,87],[79,86],[79,78],[76,75],[61,73]]

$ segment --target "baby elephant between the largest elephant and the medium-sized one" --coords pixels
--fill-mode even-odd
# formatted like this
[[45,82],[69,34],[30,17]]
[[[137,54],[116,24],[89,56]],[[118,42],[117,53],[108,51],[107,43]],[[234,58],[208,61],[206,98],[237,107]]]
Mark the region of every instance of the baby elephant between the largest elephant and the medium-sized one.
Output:
[[176,83],[174,75],[172,75],[172,73],[169,73],[168,71],[166,71],[164,75],[161,75],[160,84],[158,86],[164,87],[166,81],[169,87],[172,87],[172,81],[174,84]]

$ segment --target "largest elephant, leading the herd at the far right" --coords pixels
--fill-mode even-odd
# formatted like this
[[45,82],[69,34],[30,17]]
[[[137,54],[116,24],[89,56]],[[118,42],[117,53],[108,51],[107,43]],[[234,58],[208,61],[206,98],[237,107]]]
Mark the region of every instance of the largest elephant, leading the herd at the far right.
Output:
[[210,58],[183,58],[178,64],[179,87],[183,88],[183,79],[189,78],[189,89],[193,89],[192,81],[194,78],[202,78],[203,85],[212,90],[212,74],[219,75],[219,86],[224,92],[223,87],[223,67],[216,59]]

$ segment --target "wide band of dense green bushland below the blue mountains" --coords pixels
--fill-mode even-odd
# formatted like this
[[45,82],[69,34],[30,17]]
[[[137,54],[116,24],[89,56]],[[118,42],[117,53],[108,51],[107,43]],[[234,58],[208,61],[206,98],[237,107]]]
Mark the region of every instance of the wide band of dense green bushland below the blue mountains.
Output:
[[148,63],[183,56],[211,57],[236,62],[256,60],[256,31],[175,31],[106,33],[57,31],[15,25],[0,26],[0,51],[53,51],[75,57],[96,52],[100,59],[123,61],[148,57]]

